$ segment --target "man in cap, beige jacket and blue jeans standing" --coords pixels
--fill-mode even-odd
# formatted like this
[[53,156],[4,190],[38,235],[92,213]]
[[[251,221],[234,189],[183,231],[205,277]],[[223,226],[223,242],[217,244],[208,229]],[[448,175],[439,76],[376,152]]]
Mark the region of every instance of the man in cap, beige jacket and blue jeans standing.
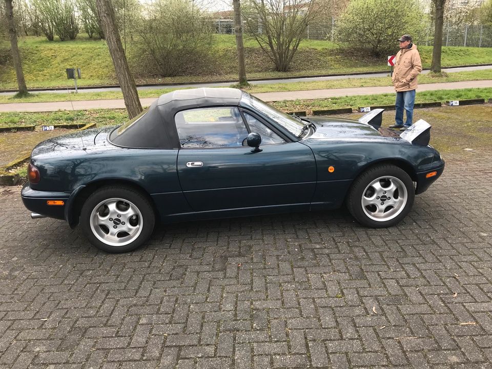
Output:
[[[389,128],[399,128],[400,131],[404,131],[412,126],[417,76],[422,71],[422,62],[417,46],[412,44],[411,35],[401,36],[398,42],[400,51],[396,54],[395,71],[392,77],[396,91],[396,116],[395,124]],[[403,124],[403,109],[406,111],[405,124]]]

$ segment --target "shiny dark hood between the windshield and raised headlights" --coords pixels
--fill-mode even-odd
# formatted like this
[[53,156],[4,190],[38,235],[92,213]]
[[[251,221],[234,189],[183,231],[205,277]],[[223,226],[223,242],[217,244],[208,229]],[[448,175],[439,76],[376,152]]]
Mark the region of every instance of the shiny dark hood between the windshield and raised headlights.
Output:
[[341,118],[308,117],[316,125],[316,131],[310,139],[337,139],[356,137],[398,137],[399,135],[384,128],[376,130],[372,126],[357,120]]

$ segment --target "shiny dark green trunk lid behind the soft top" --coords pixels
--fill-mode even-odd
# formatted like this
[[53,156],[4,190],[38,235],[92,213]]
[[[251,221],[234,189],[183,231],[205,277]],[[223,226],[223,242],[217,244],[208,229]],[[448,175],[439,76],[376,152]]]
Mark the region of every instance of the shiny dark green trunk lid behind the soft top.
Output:
[[67,135],[53,137],[38,144],[31,153],[31,157],[40,155],[70,155],[85,151],[90,153],[105,146],[111,146],[106,141],[106,136],[114,127],[94,128],[86,131],[78,131]]

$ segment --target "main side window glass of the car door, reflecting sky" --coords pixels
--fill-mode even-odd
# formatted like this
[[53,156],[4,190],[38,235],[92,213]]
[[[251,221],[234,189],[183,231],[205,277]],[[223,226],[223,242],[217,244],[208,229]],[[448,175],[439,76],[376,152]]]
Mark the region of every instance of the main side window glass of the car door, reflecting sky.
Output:
[[182,148],[240,147],[248,137],[237,107],[184,110],[174,121]]

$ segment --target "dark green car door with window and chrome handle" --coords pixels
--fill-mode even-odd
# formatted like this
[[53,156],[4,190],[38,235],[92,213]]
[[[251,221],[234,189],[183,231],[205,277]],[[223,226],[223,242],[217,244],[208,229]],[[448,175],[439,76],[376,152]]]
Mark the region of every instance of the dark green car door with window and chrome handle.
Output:
[[[245,125],[238,107],[199,108],[176,114],[181,145],[178,178],[192,209],[309,209],[316,187],[311,149],[280,137],[258,117],[244,117],[251,124]],[[251,130],[261,131],[261,151],[243,146]]]

